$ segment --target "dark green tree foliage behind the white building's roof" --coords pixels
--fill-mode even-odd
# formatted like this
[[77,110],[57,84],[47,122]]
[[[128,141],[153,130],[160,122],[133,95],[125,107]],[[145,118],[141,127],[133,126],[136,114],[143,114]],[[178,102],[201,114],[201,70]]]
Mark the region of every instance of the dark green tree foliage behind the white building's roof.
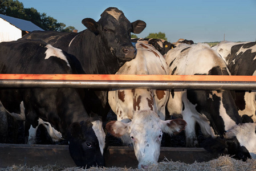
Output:
[[43,30],[68,32],[75,29],[72,26],[66,27],[64,23],[58,23],[46,13],[41,14],[34,8],[25,8],[23,3],[17,0],[0,0],[0,14],[31,21]]

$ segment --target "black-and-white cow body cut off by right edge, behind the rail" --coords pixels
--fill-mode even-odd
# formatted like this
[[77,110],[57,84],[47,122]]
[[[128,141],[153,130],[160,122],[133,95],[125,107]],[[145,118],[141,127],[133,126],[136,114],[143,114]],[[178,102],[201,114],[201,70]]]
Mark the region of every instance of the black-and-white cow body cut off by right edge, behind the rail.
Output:
[[[231,75],[256,75],[256,42],[221,42],[212,47],[225,60]],[[256,121],[256,91],[235,91],[239,115]]]

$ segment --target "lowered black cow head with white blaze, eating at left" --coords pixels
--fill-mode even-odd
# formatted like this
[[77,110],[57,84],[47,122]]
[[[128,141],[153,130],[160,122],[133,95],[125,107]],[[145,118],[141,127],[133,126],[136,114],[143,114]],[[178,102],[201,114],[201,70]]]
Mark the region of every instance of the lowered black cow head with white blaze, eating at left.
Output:
[[72,123],[68,132],[70,155],[77,166],[104,166],[105,133],[100,120]]

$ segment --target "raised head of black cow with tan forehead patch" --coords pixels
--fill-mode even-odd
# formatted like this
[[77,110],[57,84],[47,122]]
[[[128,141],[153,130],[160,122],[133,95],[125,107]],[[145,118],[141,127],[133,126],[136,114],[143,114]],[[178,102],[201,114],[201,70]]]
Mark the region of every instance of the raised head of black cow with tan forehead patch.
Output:
[[129,22],[124,13],[115,7],[109,7],[98,22],[85,18],[83,25],[95,35],[100,36],[103,44],[119,61],[128,61],[136,56],[136,48],[131,43],[131,32],[139,34],[146,27],[144,21]]

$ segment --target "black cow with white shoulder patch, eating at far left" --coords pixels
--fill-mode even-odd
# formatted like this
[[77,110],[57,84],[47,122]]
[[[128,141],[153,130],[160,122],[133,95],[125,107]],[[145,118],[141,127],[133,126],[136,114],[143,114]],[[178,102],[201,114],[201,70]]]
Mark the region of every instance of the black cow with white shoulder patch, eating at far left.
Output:
[[[0,43],[1,74],[76,74],[75,58],[37,40]],[[105,133],[99,117],[89,117],[74,88],[1,88],[0,100],[9,112],[21,115],[34,140],[39,124],[54,141],[67,139],[78,166],[104,166]],[[17,114],[18,113],[18,114]],[[23,119],[22,119],[23,118]],[[34,134],[33,134],[34,132]]]

